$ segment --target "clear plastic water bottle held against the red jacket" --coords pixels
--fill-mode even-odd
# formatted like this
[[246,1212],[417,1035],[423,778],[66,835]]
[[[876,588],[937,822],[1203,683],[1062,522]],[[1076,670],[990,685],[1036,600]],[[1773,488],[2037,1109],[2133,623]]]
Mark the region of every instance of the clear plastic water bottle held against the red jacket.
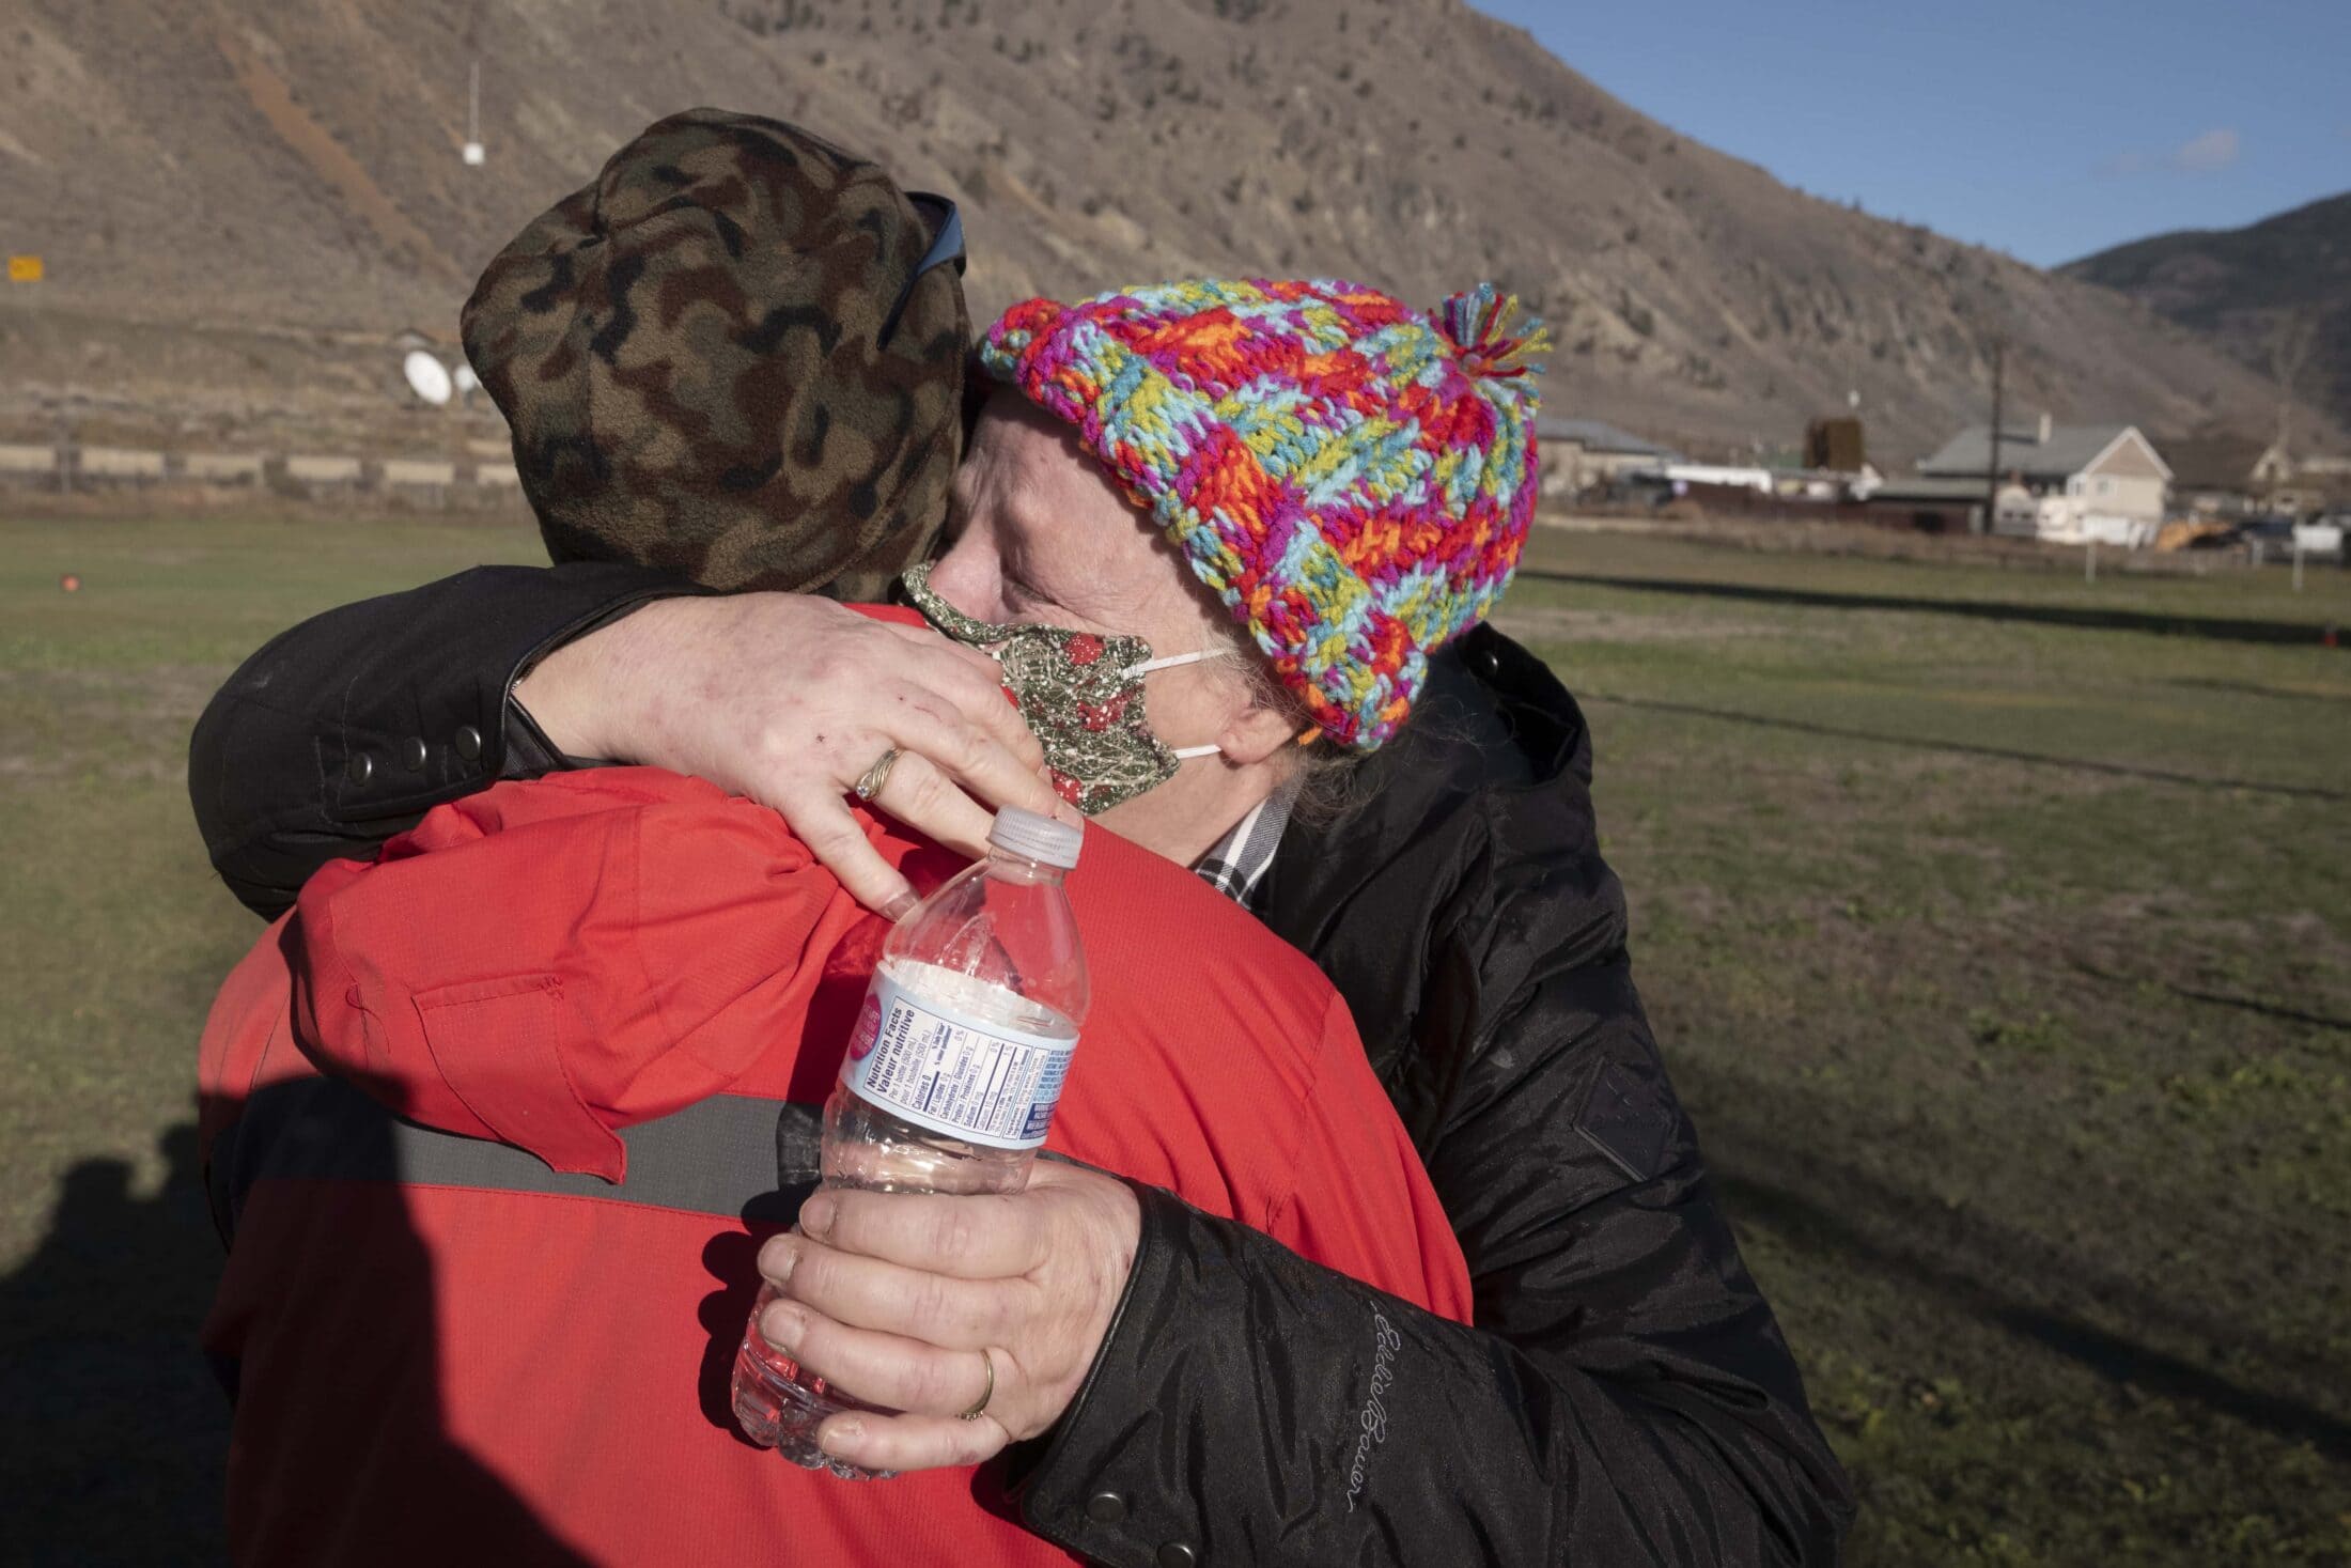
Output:
[[[825,1103],[825,1185],[870,1192],[1020,1192],[1086,1018],[1086,952],[1063,877],[1081,832],[1006,806],[990,853],[905,912]],[[868,1408],[759,1338],[759,1286],[736,1352],[743,1432],[795,1465],[865,1479],[816,1427]]]

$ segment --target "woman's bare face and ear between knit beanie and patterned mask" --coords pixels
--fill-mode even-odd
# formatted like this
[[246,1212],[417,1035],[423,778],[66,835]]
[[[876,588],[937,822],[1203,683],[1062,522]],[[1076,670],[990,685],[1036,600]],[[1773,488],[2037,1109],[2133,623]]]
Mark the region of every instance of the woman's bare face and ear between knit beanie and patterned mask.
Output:
[[[1220,646],[1223,609],[1150,517],[1079,447],[1077,430],[1018,393],[994,393],[955,477],[952,543],[931,588],[976,621],[1143,637],[1159,658]],[[1208,745],[1244,682],[1218,665],[1150,677],[1150,724]]]

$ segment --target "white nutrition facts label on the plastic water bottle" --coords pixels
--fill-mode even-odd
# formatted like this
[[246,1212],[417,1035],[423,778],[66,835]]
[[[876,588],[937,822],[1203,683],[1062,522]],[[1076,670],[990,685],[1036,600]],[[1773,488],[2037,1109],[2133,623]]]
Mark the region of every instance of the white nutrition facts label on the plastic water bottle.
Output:
[[849,1088],[933,1133],[997,1150],[1044,1143],[1077,1039],[940,1013],[875,978],[849,1041]]

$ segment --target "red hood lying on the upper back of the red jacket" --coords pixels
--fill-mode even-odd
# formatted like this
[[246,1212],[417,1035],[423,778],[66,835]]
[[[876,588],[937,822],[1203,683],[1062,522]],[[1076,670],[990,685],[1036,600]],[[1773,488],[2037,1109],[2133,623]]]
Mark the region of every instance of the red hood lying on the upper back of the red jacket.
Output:
[[310,879],[284,933],[296,1039],[402,1117],[621,1180],[611,1128],[797,1041],[863,919],[773,811],[715,785],[505,783]]

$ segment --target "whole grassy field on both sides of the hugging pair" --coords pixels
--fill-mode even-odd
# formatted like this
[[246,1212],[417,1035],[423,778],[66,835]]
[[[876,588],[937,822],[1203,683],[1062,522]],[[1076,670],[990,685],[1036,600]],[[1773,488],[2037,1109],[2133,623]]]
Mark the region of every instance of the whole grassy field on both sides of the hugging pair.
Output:
[[[0,522],[21,1561],[219,1554],[190,1060],[256,926],[188,820],[188,724],[310,609],[534,555],[520,529]],[[1862,1490],[1853,1561],[2351,1556],[2327,621],[2332,569],[2292,595],[1538,543],[1505,625],[1592,719],[1643,994]]]

